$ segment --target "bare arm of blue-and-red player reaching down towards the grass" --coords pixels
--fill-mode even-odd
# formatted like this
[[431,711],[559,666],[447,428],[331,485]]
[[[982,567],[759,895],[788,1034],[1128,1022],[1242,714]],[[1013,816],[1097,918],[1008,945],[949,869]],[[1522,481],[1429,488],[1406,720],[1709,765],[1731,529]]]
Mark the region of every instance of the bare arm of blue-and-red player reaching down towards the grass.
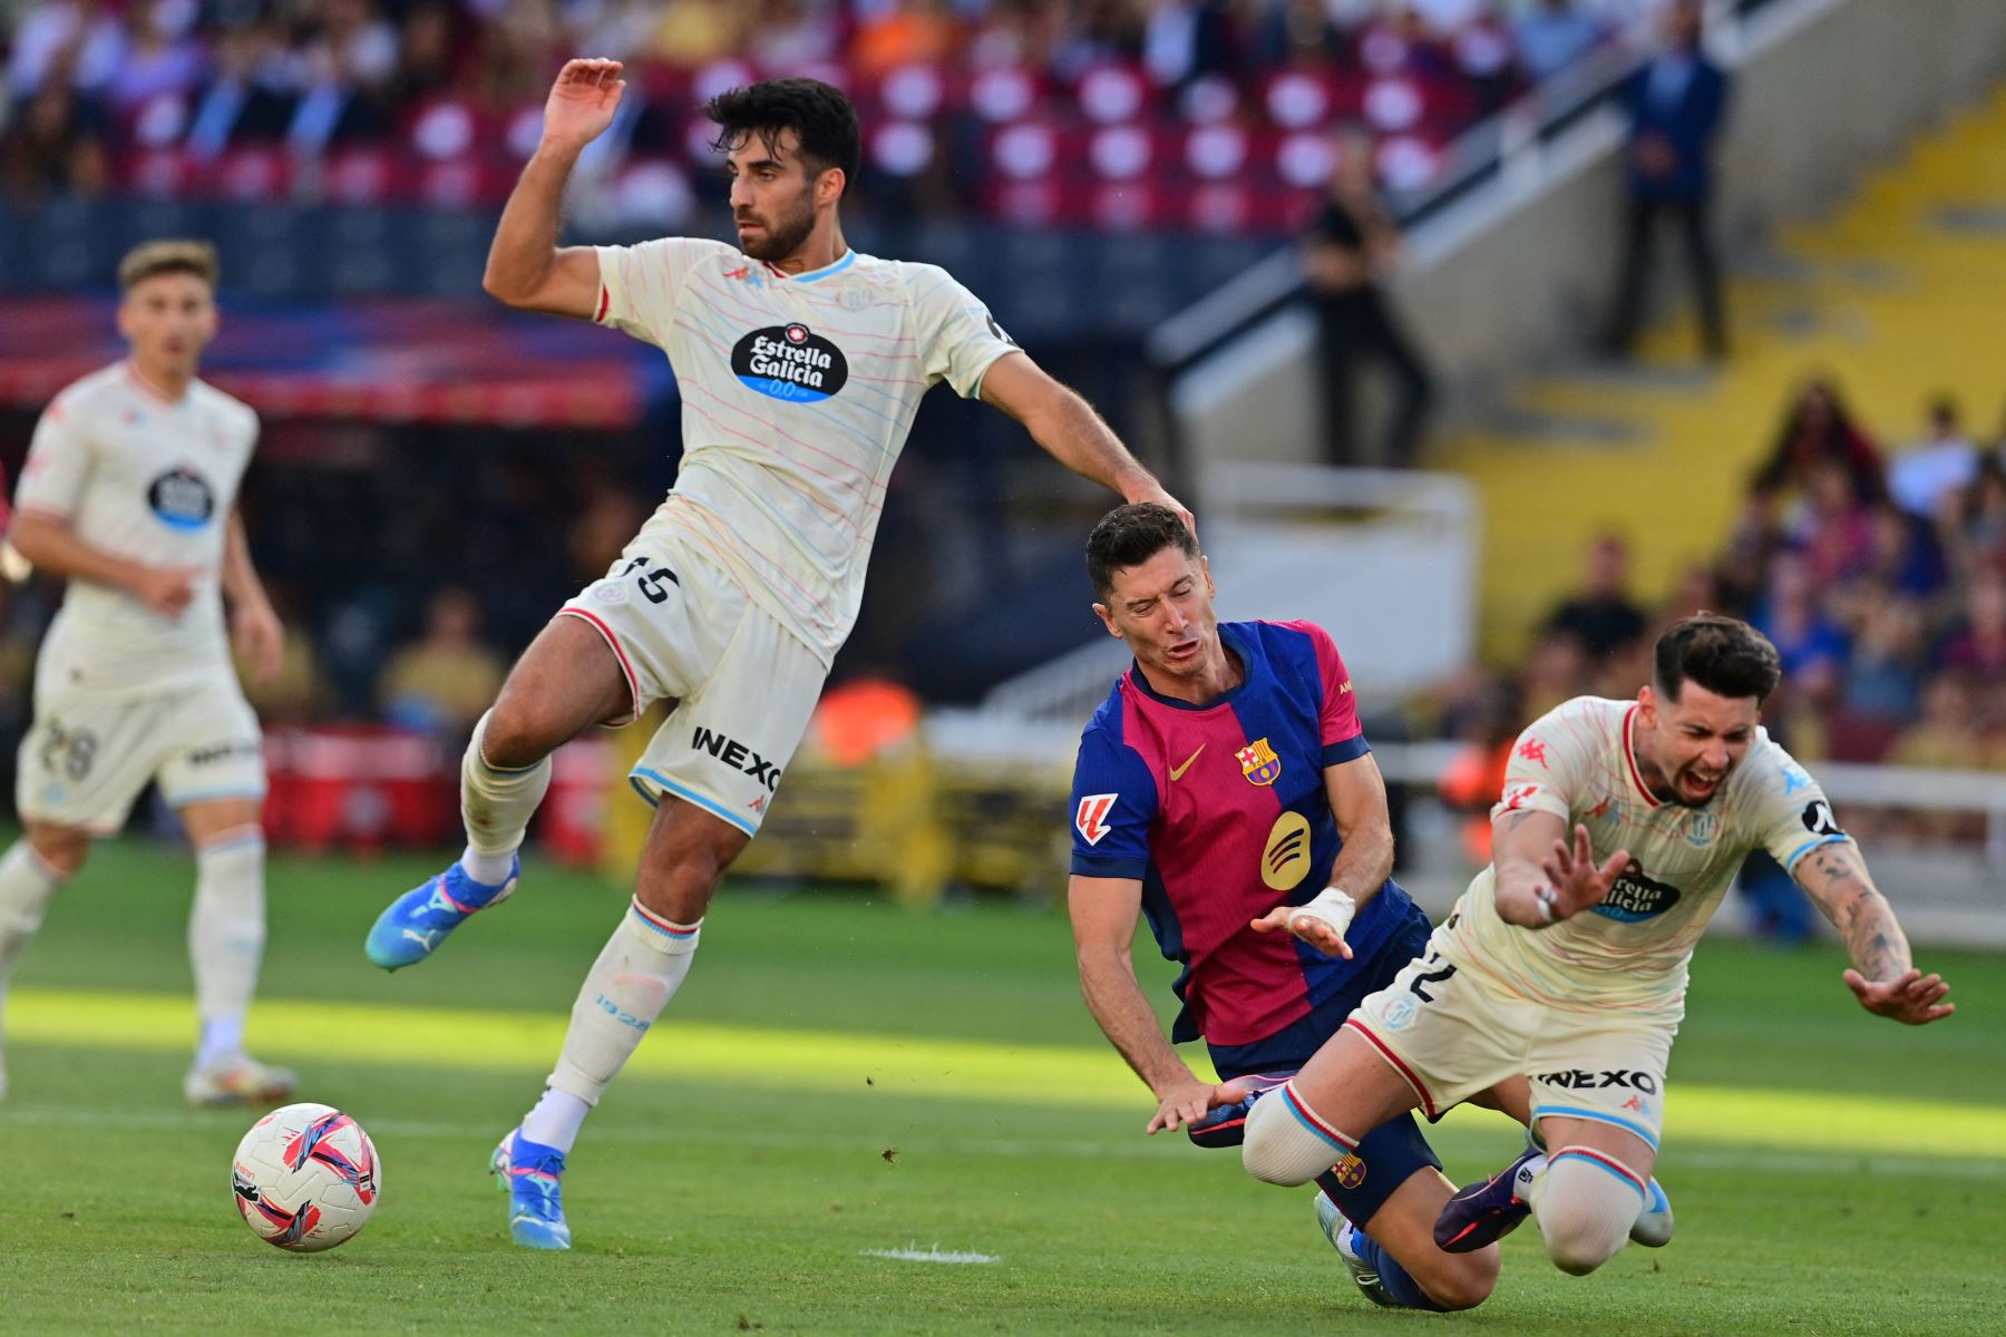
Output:
[[1176,1131],[1232,1104],[1242,1092],[1226,1084],[1202,1082],[1178,1050],[1135,980],[1135,920],[1141,918],[1141,882],[1135,878],[1087,878],[1073,874],[1065,890],[1073,918],[1073,950],[1079,956],[1079,992],[1101,1034],[1135,1068],[1135,1076],[1155,1092],[1155,1117],[1145,1133]]

